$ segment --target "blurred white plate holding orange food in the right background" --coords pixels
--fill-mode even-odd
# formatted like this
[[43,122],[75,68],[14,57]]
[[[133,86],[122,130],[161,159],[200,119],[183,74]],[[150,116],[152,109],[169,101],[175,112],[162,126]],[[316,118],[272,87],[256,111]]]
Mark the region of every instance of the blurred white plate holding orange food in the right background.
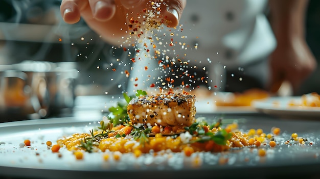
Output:
[[320,119],[320,107],[289,106],[291,101],[299,103],[301,96],[270,97],[253,101],[253,107],[259,112],[281,117]]

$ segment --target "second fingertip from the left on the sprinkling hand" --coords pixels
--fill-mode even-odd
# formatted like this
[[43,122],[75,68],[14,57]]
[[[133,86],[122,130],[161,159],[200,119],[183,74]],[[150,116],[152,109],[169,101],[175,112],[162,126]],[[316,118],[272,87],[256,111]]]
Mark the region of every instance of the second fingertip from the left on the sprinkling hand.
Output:
[[89,0],[93,17],[99,21],[111,19],[116,13],[116,5],[113,0]]

